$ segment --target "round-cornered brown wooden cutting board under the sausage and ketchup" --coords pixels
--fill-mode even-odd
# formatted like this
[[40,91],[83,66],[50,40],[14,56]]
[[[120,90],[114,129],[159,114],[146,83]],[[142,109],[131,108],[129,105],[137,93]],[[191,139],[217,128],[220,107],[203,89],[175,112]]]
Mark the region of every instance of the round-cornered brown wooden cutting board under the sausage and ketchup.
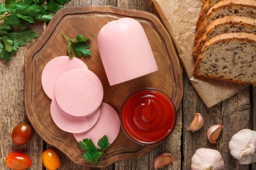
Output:
[[[101,27],[112,20],[129,17],[138,20],[144,28],[156,62],[158,71],[128,82],[110,86],[97,48],[97,35]],[[139,88],[158,88],[167,93],[177,109],[182,99],[182,75],[179,58],[170,35],[160,20],[148,12],[118,9],[116,7],[72,7],[58,11],[44,33],[39,37],[25,56],[25,92],[26,113],[35,131],[44,141],[58,148],[81,165],[93,166],[83,158],[83,151],[77,145],[72,133],[59,129],[50,114],[51,99],[43,92],[41,73],[45,65],[57,56],[67,56],[67,41],[62,33],[70,38],[82,34],[89,37],[93,56],[82,58],[101,80],[104,86],[104,102],[119,112],[125,98]],[[54,74],[54,73],[53,73]],[[150,152],[157,144],[140,145],[131,141],[122,129],[112,145],[102,156],[98,167],[104,167],[120,160],[135,159]]]

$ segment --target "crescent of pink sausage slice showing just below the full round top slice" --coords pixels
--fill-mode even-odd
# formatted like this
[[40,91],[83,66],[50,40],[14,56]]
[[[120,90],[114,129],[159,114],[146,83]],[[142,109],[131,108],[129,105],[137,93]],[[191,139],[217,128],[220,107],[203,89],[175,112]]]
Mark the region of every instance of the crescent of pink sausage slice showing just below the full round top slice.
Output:
[[53,122],[63,131],[70,133],[81,133],[91,129],[95,125],[100,116],[100,109],[91,116],[77,117],[71,116],[64,112],[59,106],[56,100],[53,98],[51,102],[51,116]]

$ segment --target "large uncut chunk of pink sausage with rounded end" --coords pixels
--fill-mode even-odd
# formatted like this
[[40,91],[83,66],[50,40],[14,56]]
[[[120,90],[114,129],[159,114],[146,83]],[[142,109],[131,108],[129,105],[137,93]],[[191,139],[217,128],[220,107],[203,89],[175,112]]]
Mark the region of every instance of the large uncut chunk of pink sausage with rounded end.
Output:
[[132,18],[104,25],[98,33],[98,50],[110,86],[158,71],[146,33]]

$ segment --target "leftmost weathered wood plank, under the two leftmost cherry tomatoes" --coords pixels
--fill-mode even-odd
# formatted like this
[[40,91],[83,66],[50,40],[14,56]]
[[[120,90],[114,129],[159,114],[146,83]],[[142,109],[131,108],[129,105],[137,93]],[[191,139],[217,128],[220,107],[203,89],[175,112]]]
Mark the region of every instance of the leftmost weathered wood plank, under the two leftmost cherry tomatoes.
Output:
[[[41,35],[44,25],[38,22],[33,25],[33,29]],[[14,144],[11,139],[14,126],[20,122],[29,124],[24,107],[24,55],[33,42],[28,43],[26,47],[20,47],[9,63],[0,61],[0,169],[7,169],[5,158],[13,151],[23,152],[30,156],[32,158],[31,169],[42,169],[42,164],[38,163],[38,160],[41,160],[43,141],[35,131],[33,131],[31,141],[22,146]]]

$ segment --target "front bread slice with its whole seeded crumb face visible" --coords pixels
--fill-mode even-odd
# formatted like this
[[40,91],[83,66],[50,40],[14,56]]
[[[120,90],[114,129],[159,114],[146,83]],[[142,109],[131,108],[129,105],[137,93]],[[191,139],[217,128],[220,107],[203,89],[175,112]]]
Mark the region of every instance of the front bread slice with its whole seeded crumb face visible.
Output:
[[205,42],[194,75],[256,86],[256,35],[225,33]]

